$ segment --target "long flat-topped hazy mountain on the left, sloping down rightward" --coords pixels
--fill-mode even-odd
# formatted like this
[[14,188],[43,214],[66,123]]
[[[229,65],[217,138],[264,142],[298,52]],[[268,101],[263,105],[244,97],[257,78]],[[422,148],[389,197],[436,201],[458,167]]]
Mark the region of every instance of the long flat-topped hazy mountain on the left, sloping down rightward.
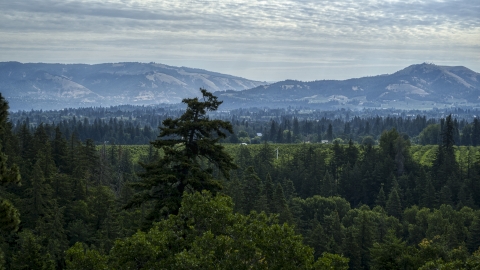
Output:
[[216,72],[156,63],[0,62],[0,92],[12,110],[179,103],[209,91],[266,84]]

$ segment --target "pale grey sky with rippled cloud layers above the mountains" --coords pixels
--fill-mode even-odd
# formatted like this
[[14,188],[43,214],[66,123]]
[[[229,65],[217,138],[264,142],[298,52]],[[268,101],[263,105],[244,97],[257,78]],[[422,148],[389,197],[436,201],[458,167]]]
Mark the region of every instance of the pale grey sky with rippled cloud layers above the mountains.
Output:
[[480,72],[480,0],[0,0],[0,61],[156,62],[260,81]]

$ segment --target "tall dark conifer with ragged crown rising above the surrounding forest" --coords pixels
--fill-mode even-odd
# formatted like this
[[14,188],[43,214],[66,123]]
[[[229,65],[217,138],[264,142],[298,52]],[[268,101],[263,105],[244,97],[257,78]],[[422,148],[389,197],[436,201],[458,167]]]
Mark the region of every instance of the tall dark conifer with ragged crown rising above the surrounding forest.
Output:
[[207,112],[218,109],[222,101],[205,89],[201,98],[187,98],[183,115],[167,118],[160,126],[159,138],[151,144],[163,152],[160,158],[143,164],[141,181],[133,186],[139,191],[128,207],[152,202],[148,220],[158,220],[163,214],[177,214],[184,192],[220,190],[220,182],[213,178],[216,168],[226,178],[236,165],[219,145],[226,132],[233,133],[230,122],[211,120]]

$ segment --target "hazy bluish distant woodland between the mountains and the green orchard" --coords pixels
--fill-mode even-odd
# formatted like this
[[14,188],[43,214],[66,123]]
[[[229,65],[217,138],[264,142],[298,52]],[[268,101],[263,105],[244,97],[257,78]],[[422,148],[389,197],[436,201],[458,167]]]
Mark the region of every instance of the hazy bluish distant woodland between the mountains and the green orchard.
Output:
[[[43,125],[49,136],[58,127],[70,139],[74,135],[85,142],[99,144],[148,144],[158,136],[158,126],[167,118],[178,118],[185,106],[162,108],[148,106],[115,106],[109,108],[78,108],[58,111],[18,111],[11,113],[14,133],[28,129],[30,133]],[[364,140],[378,141],[383,131],[395,128],[421,145],[441,142],[442,118],[452,115],[455,145],[480,145],[480,112],[463,109],[452,111],[366,110],[318,111],[302,109],[236,109],[211,111],[213,119],[229,121],[233,133],[222,140],[226,143],[259,144],[321,142],[337,139],[362,144]],[[261,136],[259,136],[261,134]]]

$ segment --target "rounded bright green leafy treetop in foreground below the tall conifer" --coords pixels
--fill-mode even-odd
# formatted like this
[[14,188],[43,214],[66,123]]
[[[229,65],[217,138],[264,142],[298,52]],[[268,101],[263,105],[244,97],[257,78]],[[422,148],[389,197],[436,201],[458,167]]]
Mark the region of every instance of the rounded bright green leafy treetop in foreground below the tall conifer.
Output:
[[[178,215],[157,223],[148,233],[118,240],[110,251],[109,266],[313,269],[313,250],[302,244],[292,227],[278,225],[265,214],[234,214],[231,204],[229,198],[208,192],[185,194]],[[341,257],[338,260],[343,261]],[[85,259],[73,258],[71,263],[78,261]]]

